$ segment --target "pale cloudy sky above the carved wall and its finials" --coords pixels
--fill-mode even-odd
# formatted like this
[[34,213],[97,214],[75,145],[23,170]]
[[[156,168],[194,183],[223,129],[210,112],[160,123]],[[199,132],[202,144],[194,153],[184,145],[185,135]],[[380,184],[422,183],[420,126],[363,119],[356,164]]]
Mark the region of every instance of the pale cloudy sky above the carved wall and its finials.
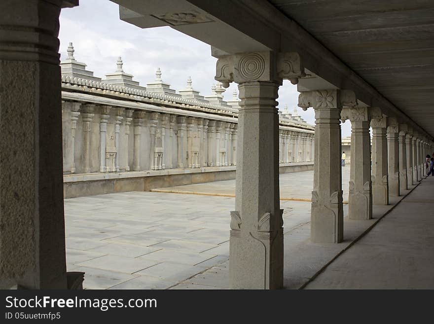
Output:
[[[122,56],[125,72],[146,86],[161,69],[162,78],[176,90],[184,89],[188,76],[193,88],[202,95],[211,94],[217,59],[211,56],[206,43],[186,36],[170,27],[140,29],[119,19],[118,5],[109,0],[80,0],[75,8],[62,9],[60,15],[61,60],[67,57],[68,43],[74,46],[74,57],[87,64],[87,70],[104,77],[116,70],[118,56]],[[232,98],[236,84],[224,93],[225,100]],[[290,112],[297,107],[296,86],[284,81],[279,89],[279,109],[288,105]],[[312,108],[297,108],[308,123],[314,124]],[[342,136],[350,135],[350,123],[342,124]]]

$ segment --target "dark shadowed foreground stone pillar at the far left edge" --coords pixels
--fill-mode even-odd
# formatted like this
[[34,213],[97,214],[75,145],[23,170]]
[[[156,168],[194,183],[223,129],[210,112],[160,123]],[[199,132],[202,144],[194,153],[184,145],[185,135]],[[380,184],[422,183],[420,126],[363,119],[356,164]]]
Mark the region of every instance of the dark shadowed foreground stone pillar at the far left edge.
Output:
[[66,289],[59,14],[0,1],[0,288]]

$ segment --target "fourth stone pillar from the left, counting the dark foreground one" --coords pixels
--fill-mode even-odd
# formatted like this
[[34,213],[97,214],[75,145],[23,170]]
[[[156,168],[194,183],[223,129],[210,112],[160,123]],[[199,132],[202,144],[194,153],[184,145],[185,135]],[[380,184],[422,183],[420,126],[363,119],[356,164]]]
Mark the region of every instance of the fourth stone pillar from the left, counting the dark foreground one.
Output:
[[369,123],[373,108],[344,108],[342,120],[351,121],[351,164],[348,216],[372,218],[371,141]]

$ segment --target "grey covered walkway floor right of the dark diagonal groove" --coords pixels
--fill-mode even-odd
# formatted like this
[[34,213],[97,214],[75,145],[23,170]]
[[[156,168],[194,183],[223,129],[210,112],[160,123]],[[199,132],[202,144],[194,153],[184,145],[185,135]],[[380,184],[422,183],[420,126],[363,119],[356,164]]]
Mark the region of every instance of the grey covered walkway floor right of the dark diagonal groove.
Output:
[[417,186],[307,289],[433,289],[434,177]]

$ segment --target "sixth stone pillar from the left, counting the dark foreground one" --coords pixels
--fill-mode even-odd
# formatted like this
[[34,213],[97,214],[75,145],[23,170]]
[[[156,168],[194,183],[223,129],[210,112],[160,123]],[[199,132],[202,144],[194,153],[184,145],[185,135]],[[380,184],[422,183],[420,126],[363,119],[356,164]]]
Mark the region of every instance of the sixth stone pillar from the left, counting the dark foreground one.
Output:
[[389,196],[399,196],[399,143],[398,123],[395,118],[387,118],[387,158],[388,158],[388,182]]

